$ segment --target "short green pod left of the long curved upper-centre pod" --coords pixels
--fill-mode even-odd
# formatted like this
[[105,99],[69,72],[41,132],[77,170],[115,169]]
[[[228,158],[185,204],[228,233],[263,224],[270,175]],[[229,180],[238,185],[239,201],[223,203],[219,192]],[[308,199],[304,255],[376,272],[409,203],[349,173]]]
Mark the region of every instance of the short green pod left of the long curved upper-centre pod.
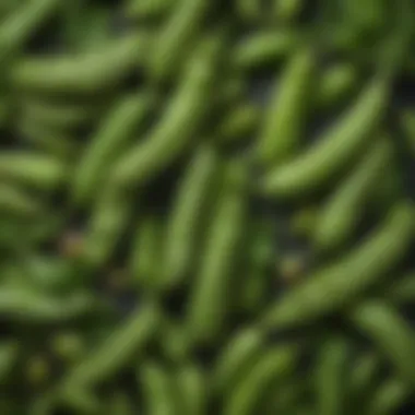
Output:
[[145,93],[124,96],[100,122],[74,173],[72,199],[76,204],[94,200],[108,167],[129,146],[153,104],[153,97]]

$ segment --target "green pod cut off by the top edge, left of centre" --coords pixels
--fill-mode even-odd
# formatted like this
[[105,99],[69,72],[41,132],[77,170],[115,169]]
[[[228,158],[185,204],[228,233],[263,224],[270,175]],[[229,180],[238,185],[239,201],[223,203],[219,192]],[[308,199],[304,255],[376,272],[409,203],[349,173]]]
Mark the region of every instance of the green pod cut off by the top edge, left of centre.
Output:
[[149,61],[149,74],[164,81],[178,71],[195,39],[210,8],[208,0],[179,0],[154,39]]

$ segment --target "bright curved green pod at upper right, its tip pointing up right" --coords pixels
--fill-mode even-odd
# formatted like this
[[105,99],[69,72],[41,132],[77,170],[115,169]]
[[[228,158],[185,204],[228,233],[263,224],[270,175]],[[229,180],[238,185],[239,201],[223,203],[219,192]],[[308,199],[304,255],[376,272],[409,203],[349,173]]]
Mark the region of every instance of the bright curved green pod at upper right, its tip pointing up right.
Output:
[[357,103],[308,151],[270,171],[262,191],[275,197],[299,197],[332,181],[374,139],[388,99],[389,82],[376,78]]

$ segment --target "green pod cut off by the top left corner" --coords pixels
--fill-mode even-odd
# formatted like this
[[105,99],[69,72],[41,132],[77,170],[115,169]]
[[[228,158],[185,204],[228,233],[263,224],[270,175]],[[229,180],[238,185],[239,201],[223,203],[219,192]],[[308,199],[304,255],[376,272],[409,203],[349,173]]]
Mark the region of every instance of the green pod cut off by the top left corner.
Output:
[[[58,9],[59,0],[34,0],[17,7],[0,25],[0,60],[21,48]],[[3,64],[3,62],[2,62]]]

